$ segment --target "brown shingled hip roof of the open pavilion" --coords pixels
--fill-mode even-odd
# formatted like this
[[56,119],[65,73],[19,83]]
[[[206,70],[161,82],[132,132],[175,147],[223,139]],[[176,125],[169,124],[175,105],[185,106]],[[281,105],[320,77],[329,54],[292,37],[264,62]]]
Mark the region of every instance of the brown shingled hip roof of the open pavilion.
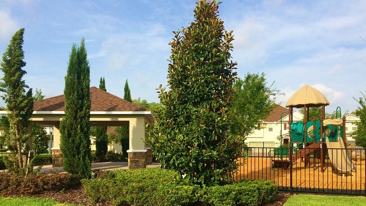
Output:
[[[108,93],[95,86],[90,87],[90,111],[147,111],[147,109],[132,104],[124,99]],[[64,111],[65,96],[47,98],[34,102],[34,111]]]

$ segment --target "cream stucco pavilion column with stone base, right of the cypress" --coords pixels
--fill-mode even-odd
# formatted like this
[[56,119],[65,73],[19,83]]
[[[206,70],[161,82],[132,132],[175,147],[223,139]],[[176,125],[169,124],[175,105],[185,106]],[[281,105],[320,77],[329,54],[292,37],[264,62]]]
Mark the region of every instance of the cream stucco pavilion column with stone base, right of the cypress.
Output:
[[128,168],[146,168],[145,118],[143,115],[131,118],[130,129],[130,149],[128,152]]

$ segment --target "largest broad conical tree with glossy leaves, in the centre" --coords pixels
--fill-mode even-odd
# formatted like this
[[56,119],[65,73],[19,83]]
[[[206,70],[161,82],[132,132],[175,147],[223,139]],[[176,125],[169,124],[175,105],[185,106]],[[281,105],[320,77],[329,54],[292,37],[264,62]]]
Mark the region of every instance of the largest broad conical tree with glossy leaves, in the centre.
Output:
[[242,144],[228,133],[236,62],[218,4],[200,0],[190,26],[173,32],[169,90],[159,86],[162,107],[147,135],[162,168],[201,185],[230,180]]

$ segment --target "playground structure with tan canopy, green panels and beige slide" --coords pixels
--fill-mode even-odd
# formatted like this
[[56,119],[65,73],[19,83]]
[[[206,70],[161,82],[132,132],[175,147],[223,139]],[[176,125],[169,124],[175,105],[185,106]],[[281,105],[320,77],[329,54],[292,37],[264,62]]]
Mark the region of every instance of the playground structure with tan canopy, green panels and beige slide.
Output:
[[[326,152],[328,152],[333,168],[337,172],[345,174],[355,170],[352,160],[365,159],[364,154],[356,154],[346,138],[346,120],[345,117],[341,119],[340,108],[338,107],[336,110],[336,119],[325,119],[325,106],[327,105],[329,105],[327,98],[319,90],[309,85],[303,86],[291,96],[286,107],[288,107],[289,114],[289,144],[293,149],[290,151],[287,147],[279,148],[277,152],[275,150],[275,155],[280,155],[281,159],[274,159],[272,167],[287,168],[299,158],[302,158],[305,166],[308,166],[309,156],[313,154],[320,159],[320,168],[324,172]],[[309,120],[310,107],[322,107],[320,120]],[[292,122],[293,108],[304,108],[303,122]],[[290,158],[282,158],[283,155]]]

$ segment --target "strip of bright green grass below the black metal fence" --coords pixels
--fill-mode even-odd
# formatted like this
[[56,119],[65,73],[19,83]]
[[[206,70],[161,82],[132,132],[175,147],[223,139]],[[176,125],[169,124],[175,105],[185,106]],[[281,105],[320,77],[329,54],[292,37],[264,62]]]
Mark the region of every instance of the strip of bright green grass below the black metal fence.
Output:
[[289,198],[285,202],[285,206],[294,205],[364,205],[366,202],[366,197],[350,197],[350,196],[333,196],[333,195],[304,195],[299,194],[294,197]]

